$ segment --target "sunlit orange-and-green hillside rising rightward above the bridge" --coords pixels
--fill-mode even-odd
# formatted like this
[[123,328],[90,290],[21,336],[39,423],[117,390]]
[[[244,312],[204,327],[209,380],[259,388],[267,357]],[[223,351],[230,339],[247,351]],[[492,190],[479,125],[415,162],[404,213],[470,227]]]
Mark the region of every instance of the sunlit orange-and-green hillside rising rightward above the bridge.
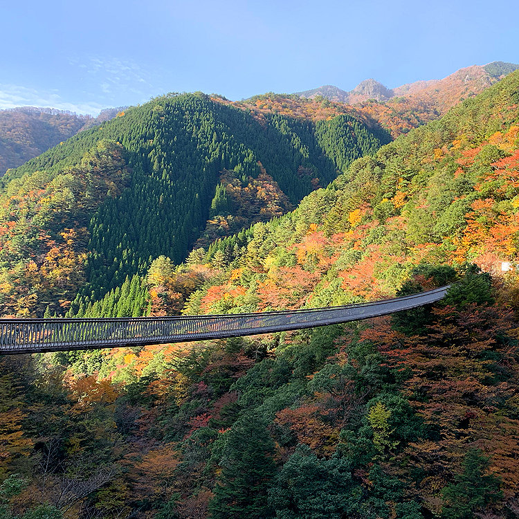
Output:
[[[218,291],[243,295],[226,298],[224,309],[212,287],[190,309],[345,304],[394,293],[420,262],[469,260],[496,272],[516,261],[518,91],[516,72],[355,161],[295,212],[254,226],[246,244],[211,246],[203,262],[221,251],[235,272]],[[233,257],[235,243],[246,248]]]

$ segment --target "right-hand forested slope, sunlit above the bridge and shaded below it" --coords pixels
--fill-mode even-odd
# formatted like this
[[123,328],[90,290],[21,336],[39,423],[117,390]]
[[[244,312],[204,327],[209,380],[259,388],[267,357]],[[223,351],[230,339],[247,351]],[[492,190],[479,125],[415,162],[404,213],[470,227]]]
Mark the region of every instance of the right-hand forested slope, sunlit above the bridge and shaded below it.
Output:
[[519,276],[497,274],[517,262],[518,136],[516,72],[293,212],[180,266],[158,257],[80,312],[128,315],[141,297],[158,314],[340,304],[458,281],[433,307],[2,358],[1,513],[516,518]]

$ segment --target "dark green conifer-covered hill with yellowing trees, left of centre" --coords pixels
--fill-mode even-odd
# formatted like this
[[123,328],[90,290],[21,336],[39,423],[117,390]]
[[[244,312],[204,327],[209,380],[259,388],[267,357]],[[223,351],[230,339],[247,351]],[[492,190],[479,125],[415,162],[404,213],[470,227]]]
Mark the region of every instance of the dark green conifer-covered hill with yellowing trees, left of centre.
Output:
[[160,255],[179,263],[199,237],[286,212],[381,139],[352,116],[258,118],[204,94],[121,112],[1,180],[1,312],[62,315],[78,291],[95,300]]

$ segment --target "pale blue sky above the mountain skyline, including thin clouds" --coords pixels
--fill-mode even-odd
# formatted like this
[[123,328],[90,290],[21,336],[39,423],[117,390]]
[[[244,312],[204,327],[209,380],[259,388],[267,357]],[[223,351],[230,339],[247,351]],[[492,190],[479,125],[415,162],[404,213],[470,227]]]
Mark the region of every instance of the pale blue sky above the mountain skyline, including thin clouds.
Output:
[[518,15],[517,0],[0,0],[0,108],[444,78],[519,63]]

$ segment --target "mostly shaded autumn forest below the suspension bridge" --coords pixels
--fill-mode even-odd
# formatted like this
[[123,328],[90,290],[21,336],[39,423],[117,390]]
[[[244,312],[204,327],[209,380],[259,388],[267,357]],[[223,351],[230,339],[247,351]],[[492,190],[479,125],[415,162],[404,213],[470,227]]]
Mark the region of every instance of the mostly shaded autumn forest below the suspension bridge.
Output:
[[2,359],[0,513],[514,518],[518,323],[499,294],[468,269],[442,304],[368,325],[93,352],[75,374]]

